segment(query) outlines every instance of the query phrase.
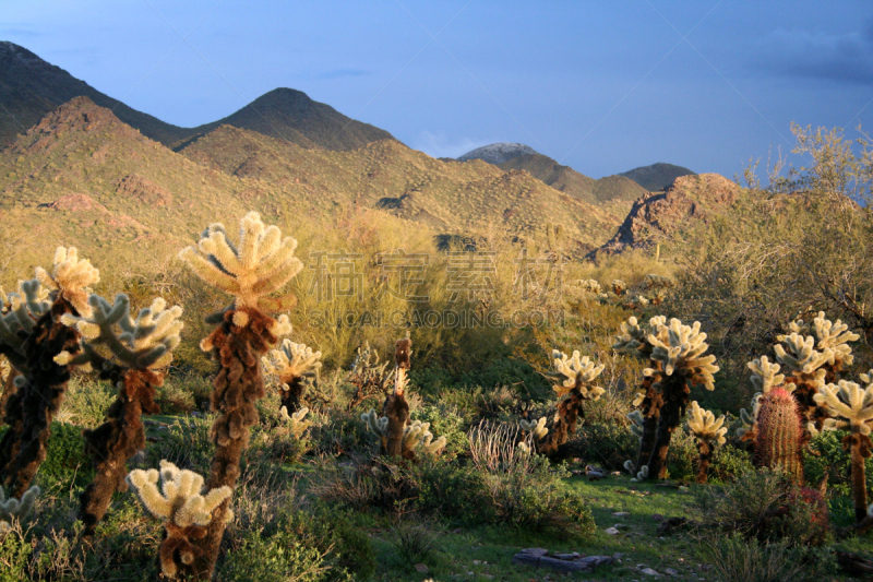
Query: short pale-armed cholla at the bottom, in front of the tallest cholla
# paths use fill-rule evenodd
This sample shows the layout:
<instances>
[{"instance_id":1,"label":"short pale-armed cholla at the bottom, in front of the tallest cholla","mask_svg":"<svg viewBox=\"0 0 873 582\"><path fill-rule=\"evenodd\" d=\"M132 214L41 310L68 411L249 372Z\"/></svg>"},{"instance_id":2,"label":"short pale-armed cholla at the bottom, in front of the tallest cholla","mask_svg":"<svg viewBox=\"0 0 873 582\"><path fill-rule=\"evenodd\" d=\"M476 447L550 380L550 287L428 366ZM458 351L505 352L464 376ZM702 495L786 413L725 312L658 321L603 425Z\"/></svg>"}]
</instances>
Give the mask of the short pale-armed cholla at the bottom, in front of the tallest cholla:
<instances>
[{"instance_id":1,"label":"short pale-armed cholla at the bottom, in front of the tallest cholla","mask_svg":"<svg viewBox=\"0 0 873 582\"><path fill-rule=\"evenodd\" d=\"M157 488L158 475L162 490ZM160 462L159 474L154 468L131 471L128 483L145 509L164 522L167 537L159 551L163 574L177 578L195 573L192 566L203 550L192 541L206 535L206 527L218 518L216 510L230 499L230 487L213 488L203 495L203 477L168 461ZM225 511L220 519L232 520L232 511Z\"/></svg>"}]
</instances>

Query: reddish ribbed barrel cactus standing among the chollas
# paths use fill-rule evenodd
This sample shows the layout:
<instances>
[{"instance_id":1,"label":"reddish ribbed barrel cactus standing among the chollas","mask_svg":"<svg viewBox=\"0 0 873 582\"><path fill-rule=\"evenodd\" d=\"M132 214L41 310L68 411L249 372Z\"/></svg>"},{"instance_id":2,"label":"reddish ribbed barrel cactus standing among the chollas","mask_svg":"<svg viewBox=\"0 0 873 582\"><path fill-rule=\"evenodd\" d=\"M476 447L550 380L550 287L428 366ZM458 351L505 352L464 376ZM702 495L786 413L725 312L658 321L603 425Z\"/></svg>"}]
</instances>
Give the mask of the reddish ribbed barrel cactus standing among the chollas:
<instances>
[{"instance_id":1,"label":"reddish ribbed barrel cactus standing among the chollas","mask_svg":"<svg viewBox=\"0 0 873 582\"><path fill-rule=\"evenodd\" d=\"M803 480L801 416L788 390L774 388L758 400L755 461L781 468L794 483Z\"/></svg>"}]
</instances>

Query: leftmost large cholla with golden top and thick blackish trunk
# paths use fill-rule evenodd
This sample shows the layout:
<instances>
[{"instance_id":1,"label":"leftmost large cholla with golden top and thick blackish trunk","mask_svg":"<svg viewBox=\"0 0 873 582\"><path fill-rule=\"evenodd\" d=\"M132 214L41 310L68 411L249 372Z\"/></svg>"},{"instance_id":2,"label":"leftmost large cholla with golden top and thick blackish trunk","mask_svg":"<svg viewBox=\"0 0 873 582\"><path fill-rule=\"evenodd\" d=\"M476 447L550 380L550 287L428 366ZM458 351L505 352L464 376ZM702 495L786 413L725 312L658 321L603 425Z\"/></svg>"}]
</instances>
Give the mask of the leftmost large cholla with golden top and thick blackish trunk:
<instances>
[{"instance_id":1,"label":"leftmost large cholla with golden top and thick blackish trunk","mask_svg":"<svg viewBox=\"0 0 873 582\"><path fill-rule=\"evenodd\" d=\"M19 307L0 318L0 351L22 373L15 394L7 401L7 421L12 428L0 443L0 478L14 497L29 487L46 458L51 419L70 380L70 370L56 363L55 356L77 351L79 333L63 325L61 316L91 314L87 287L99 281L97 270L80 260L74 247L59 247L51 274L37 268L35 275L21 284ZM49 292L47 309L40 286Z\"/></svg>"}]
</instances>

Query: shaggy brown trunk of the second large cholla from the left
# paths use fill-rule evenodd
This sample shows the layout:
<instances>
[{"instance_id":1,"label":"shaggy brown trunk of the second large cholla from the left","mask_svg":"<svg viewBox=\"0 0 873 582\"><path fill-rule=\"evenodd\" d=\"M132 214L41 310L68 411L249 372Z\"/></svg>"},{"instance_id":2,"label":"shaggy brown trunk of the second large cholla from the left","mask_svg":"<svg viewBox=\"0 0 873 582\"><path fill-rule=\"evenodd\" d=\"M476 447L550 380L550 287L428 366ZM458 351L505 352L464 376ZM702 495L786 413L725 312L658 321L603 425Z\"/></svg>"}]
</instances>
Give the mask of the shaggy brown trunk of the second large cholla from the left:
<instances>
[{"instance_id":1,"label":"shaggy brown trunk of the second large cholla from the left","mask_svg":"<svg viewBox=\"0 0 873 582\"><path fill-rule=\"evenodd\" d=\"M93 535L106 514L115 491L124 490L127 462L145 447L142 414L157 414L155 389L164 383L163 373L151 370L121 370L106 375L118 383L118 399L106 413L107 420L95 430L85 430L85 447L94 458L94 480L81 496L80 516L84 535Z\"/></svg>"}]
</instances>

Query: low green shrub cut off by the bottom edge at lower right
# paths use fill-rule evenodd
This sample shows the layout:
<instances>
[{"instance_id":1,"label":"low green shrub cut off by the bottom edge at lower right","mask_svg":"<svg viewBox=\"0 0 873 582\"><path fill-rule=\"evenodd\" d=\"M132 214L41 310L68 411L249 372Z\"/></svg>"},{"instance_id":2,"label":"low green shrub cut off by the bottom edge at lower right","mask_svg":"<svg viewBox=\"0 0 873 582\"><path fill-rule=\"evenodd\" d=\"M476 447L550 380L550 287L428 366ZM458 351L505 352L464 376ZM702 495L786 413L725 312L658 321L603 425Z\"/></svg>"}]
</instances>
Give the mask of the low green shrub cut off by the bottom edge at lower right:
<instances>
[{"instance_id":1,"label":"low green shrub cut off by the bottom edge at lower right","mask_svg":"<svg viewBox=\"0 0 873 582\"><path fill-rule=\"evenodd\" d=\"M704 539L703 554L719 582L802 582L821 575L822 568L787 542L760 543L741 534Z\"/></svg>"}]
</instances>

